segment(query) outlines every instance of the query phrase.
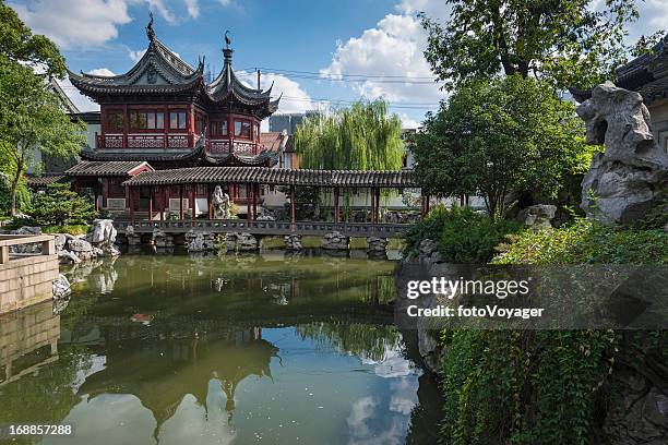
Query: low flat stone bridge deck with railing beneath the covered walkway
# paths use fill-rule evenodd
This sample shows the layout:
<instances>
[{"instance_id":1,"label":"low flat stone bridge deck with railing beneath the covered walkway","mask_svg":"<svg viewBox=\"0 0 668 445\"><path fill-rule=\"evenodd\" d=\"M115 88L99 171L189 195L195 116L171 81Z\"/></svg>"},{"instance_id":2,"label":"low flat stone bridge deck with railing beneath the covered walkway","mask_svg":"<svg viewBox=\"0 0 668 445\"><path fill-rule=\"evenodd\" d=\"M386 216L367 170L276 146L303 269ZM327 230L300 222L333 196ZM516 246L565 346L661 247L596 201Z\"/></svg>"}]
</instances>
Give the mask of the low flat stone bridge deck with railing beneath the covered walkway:
<instances>
[{"instance_id":1,"label":"low flat stone bridge deck with railing beneath the covered walkway","mask_svg":"<svg viewBox=\"0 0 668 445\"><path fill-rule=\"evenodd\" d=\"M319 221L272 221L246 219L195 219L189 220L116 220L114 226L119 233L126 233L128 226L132 226L134 233L151 233L162 230L166 233L178 234L189 231L208 233L234 233L246 232L253 236L324 236L338 231L345 237L378 237L399 238L409 224L383 224L383 222L319 222Z\"/></svg>"}]
</instances>

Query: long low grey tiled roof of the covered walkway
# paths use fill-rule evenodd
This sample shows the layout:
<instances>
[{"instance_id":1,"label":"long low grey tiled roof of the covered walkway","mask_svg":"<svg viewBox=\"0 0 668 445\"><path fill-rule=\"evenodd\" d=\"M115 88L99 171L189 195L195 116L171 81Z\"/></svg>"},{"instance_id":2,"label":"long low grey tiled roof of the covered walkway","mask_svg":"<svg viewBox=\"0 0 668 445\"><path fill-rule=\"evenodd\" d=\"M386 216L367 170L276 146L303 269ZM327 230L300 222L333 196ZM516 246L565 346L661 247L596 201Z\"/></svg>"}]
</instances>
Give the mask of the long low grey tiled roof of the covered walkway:
<instances>
[{"instance_id":1,"label":"long low grey tiled roof of the covered walkway","mask_svg":"<svg viewBox=\"0 0 668 445\"><path fill-rule=\"evenodd\" d=\"M145 171L128 181L127 185L176 185L192 183L243 183L270 185L319 185L345 188L413 188L418 184L413 171L398 170L309 170L265 167L193 167Z\"/></svg>"}]
</instances>

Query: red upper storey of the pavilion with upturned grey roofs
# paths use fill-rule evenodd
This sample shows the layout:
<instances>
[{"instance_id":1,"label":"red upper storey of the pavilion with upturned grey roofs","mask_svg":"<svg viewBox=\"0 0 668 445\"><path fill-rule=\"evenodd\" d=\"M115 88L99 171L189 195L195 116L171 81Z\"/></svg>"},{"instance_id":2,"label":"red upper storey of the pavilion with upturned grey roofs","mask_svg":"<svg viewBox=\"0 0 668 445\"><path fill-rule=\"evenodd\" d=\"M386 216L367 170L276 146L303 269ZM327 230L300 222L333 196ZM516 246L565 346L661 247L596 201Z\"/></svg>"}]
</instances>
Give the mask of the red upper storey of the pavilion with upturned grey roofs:
<instances>
[{"instance_id":1,"label":"red upper storey of the pavilion with upturned grey roofs","mask_svg":"<svg viewBox=\"0 0 668 445\"><path fill-rule=\"evenodd\" d=\"M281 98L242 84L231 68L232 49L206 84L204 59L192 68L146 27L148 48L126 74L69 72L72 84L100 107L100 134L84 160L147 161L155 169L196 166L271 167L278 154L265 149L260 122ZM228 40L229 41L229 40Z\"/></svg>"}]
</instances>

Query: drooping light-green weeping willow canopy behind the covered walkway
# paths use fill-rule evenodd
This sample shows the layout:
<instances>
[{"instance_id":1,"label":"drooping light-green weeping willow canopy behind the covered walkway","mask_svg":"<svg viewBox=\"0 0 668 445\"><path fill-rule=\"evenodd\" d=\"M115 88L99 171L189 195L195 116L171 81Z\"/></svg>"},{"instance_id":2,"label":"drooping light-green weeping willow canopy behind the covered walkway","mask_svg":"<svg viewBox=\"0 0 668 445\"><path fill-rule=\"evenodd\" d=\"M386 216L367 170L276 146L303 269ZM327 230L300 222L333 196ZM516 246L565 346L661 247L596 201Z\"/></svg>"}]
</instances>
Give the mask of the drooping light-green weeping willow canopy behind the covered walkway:
<instances>
[{"instance_id":1,"label":"drooping light-green weeping willow canopy behind the covered walkway","mask_svg":"<svg viewBox=\"0 0 668 445\"><path fill-rule=\"evenodd\" d=\"M295 132L301 167L398 170L404 156L402 122L383 100L317 113Z\"/></svg>"}]
</instances>

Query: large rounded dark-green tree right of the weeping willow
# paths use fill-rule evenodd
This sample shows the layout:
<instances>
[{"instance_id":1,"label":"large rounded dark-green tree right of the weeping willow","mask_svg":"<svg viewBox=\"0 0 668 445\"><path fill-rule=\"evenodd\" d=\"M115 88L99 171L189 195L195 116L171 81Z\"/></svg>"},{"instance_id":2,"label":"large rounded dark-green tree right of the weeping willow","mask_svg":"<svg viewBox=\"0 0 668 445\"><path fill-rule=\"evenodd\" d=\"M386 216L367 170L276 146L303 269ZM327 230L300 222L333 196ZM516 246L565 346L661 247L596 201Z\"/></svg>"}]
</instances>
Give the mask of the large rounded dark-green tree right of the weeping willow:
<instances>
[{"instance_id":1,"label":"large rounded dark-green tree right of the weeping willow","mask_svg":"<svg viewBox=\"0 0 668 445\"><path fill-rule=\"evenodd\" d=\"M520 75L463 84L415 135L415 172L430 195L485 197L492 217L506 196L532 190L554 196L564 177L584 170L592 148L574 105Z\"/></svg>"}]
</instances>

